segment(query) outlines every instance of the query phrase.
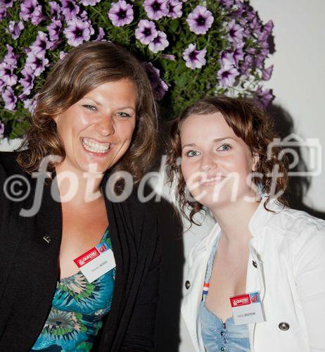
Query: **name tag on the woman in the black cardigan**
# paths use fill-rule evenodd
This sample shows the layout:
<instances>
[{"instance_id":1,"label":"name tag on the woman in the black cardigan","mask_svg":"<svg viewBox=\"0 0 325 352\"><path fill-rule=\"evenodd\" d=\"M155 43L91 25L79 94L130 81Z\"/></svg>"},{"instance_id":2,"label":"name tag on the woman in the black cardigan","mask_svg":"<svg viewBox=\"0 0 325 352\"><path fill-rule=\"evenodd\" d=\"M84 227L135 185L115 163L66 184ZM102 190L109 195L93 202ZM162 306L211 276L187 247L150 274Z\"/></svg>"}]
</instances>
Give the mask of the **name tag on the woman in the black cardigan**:
<instances>
[{"instance_id":1,"label":"name tag on the woman in the black cardigan","mask_svg":"<svg viewBox=\"0 0 325 352\"><path fill-rule=\"evenodd\" d=\"M98 244L73 261L88 282L93 282L116 266L113 251L108 248L106 243Z\"/></svg>"}]
</instances>

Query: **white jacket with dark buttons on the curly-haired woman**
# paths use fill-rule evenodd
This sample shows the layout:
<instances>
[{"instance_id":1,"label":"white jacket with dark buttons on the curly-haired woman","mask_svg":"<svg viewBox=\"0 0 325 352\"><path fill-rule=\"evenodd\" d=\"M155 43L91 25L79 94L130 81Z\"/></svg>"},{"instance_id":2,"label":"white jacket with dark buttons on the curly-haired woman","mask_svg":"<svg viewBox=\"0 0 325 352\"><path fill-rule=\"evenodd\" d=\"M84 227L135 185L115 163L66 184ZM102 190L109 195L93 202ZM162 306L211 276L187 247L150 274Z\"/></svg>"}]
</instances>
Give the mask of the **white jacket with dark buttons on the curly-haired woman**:
<instances>
[{"instance_id":1,"label":"white jacket with dark buttons on the curly-haired woman","mask_svg":"<svg viewBox=\"0 0 325 352\"><path fill-rule=\"evenodd\" d=\"M260 291L265 322L249 324L255 352L325 351L325 221L264 197L249 222L246 292ZM198 308L218 224L189 253L181 314L196 351L205 351ZM256 265L257 264L257 265Z\"/></svg>"}]
</instances>

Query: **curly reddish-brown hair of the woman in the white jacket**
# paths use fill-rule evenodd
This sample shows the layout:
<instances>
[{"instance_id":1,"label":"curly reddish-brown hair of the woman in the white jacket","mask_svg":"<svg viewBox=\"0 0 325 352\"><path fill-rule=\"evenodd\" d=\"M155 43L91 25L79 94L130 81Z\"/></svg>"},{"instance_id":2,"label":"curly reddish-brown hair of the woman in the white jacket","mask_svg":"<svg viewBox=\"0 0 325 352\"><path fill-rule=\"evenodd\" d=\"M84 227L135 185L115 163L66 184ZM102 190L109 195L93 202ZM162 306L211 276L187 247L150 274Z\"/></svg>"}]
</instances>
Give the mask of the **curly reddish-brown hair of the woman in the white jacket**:
<instances>
[{"instance_id":1,"label":"curly reddish-brown hair of the woman in the white jacket","mask_svg":"<svg viewBox=\"0 0 325 352\"><path fill-rule=\"evenodd\" d=\"M252 177L254 184L259 187L262 186L264 191L269 194L271 191L272 178L267 175L272 175L274 167L279 168L278 172L281 175L276 177L275 190L285 191L288 184L288 171L286 165L286 158L279 158L281 148L274 146L270 153L268 153L268 146L276 134L272 119L267 113L260 108L257 103L250 99L229 98L227 96L213 96L201 99L196 103L188 106L183 113L174 120L170 131L170 146L167 158L167 174L170 183L177 182L176 196L179 202L181 213L188 218L191 223L196 225L193 216L203 209L203 205L198 201L188 201L186 199L186 183L181 173L181 138L180 129L181 123L190 115L207 115L212 113L222 113L229 127L234 130L237 137L243 139L252 153L257 153L259 161L256 165L255 172L260 172L262 178ZM204 122L203 122L204 123ZM176 181L177 180L177 181ZM288 205L283 194L278 198L281 203ZM264 203L267 208L267 199ZM186 208L190 210L189 215L186 213Z\"/></svg>"}]
</instances>

